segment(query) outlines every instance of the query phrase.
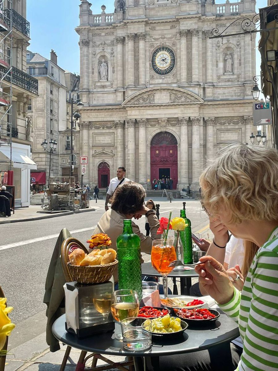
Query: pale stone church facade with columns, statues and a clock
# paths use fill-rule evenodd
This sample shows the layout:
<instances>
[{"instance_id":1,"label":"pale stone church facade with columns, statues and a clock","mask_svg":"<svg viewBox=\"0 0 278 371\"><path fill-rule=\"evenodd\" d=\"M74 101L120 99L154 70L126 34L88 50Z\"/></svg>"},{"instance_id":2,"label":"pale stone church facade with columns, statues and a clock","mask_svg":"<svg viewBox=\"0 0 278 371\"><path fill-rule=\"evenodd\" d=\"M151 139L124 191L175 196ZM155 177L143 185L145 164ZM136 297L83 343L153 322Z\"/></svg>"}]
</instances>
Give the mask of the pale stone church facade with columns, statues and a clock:
<instances>
[{"instance_id":1,"label":"pale stone church facade with columns, statues and a clock","mask_svg":"<svg viewBox=\"0 0 278 371\"><path fill-rule=\"evenodd\" d=\"M91 5L81 0L76 28L84 182L106 187L125 166L148 189L171 177L174 189L198 190L206 160L254 131L255 38L209 36L232 22L239 32L255 0L116 0L109 14Z\"/></svg>"}]
</instances>

